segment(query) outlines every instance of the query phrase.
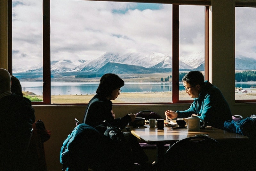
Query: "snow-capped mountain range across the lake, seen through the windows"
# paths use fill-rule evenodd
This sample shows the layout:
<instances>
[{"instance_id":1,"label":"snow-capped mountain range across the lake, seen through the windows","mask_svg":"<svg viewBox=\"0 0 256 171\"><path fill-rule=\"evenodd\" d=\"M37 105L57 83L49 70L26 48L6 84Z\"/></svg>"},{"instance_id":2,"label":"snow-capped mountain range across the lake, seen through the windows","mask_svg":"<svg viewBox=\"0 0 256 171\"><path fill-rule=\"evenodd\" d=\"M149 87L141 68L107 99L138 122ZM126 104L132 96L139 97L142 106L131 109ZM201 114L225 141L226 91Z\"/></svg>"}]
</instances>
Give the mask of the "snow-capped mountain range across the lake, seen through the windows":
<instances>
[{"instance_id":1,"label":"snow-capped mountain range across the lake, seen through the windows","mask_svg":"<svg viewBox=\"0 0 256 171\"><path fill-rule=\"evenodd\" d=\"M42 64L22 69L13 67L13 74L26 78L29 75L42 75ZM199 51L191 55L180 54L180 71L204 70L204 52ZM255 70L256 60L243 54L236 56L236 70ZM51 75L54 77L68 75L102 75L116 74L150 74L172 71L172 57L163 53L119 53L107 52L96 59L51 61Z\"/></svg>"}]
</instances>

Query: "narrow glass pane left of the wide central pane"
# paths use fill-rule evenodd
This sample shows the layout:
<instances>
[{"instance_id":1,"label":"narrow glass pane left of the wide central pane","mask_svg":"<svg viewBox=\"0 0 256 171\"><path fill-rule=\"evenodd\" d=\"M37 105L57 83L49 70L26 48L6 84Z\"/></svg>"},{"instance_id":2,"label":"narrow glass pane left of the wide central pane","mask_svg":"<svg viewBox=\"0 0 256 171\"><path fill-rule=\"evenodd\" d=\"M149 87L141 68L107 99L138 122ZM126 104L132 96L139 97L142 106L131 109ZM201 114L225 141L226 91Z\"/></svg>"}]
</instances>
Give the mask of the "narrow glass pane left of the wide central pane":
<instances>
[{"instance_id":1,"label":"narrow glass pane left of the wide central pane","mask_svg":"<svg viewBox=\"0 0 256 171\"><path fill-rule=\"evenodd\" d=\"M43 101L42 0L12 0L12 70L31 101Z\"/></svg>"}]
</instances>

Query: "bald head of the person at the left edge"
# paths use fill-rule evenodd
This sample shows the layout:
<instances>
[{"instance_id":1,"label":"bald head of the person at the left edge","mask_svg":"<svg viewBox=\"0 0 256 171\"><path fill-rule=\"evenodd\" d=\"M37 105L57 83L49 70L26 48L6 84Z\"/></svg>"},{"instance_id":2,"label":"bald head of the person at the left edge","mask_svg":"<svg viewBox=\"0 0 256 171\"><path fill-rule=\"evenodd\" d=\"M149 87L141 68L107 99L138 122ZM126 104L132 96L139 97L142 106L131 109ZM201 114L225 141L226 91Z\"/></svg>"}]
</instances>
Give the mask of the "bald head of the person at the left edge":
<instances>
[{"instance_id":1,"label":"bald head of the person at the left edge","mask_svg":"<svg viewBox=\"0 0 256 171\"><path fill-rule=\"evenodd\" d=\"M11 91L11 75L4 69L0 68L0 94Z\"/></svg>"}]
</instances>

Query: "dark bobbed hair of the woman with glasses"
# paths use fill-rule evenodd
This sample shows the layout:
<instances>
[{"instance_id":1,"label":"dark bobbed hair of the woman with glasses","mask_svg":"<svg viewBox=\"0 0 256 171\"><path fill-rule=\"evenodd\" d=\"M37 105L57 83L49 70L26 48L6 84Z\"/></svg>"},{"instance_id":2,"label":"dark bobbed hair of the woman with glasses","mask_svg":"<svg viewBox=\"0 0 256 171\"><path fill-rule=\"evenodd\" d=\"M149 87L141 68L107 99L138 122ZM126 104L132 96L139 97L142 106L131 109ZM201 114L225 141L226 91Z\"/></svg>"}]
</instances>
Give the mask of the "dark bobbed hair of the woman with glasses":
<instances>
[{"instance_id":1,"label":"dark bobbed hair of the woman with glasses","mask_svg":"<svg viewBox=\"0 0 256 171\"><path fill-rule=\"evenodd\" d=\"M100 84L96 91L97 94L102 96L110 96L112 91L124 86L124 81L116 74L104 74L100 78Z\"/></svg>"}]
</instances>

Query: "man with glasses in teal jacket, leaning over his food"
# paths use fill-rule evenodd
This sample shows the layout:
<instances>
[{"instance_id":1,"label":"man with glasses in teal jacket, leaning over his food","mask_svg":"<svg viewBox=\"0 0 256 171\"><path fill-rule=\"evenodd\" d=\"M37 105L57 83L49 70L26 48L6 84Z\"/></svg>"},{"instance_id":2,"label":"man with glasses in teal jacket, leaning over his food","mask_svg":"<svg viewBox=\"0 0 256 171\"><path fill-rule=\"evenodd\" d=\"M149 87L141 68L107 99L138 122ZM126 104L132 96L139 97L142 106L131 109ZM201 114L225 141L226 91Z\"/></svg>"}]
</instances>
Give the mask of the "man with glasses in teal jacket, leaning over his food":
<instances>
[{"instance_id":1,"label":"man with glasses in teal jacket, leaning over his food","mask_svg":"<svg viewBox=\"0 0 256 171\"><path fill-rule=\"evenodd\" d=\"M187 118L196 115L208 122L207 125L223 129L224 122L232 119L232 114L220 90L208 81L200 71L190 71L182 80L186 93L194 102L188 110L166 110L165 116L169 119Z\"/></svg>"}]
</instances>

